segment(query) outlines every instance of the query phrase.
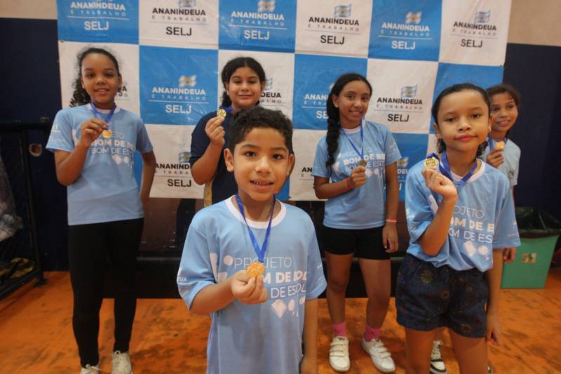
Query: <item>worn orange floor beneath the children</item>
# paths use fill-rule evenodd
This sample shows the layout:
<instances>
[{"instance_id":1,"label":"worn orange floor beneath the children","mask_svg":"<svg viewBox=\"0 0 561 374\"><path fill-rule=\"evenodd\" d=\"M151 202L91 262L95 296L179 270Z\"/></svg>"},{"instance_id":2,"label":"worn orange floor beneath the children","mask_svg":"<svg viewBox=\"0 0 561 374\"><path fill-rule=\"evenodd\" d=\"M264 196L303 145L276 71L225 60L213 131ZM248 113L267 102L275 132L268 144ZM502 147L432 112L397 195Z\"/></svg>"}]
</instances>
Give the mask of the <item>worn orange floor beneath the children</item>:
<instances>
[{"instance_id":1,"label":"worn orange floor beneath the children","mask_svg":"<svg viewBox=\"0 0 561 374\"><path fill-rule=\"evenodd\" d=\"M0 300L1 373L79 373L69 274L48 272L46 278L46 286L27 285ZM347 300L349 373L377 373L360 347L365 304L365 299ZM494 373L559 373L561 269L550 271L546 288L502 290L500 312L504 345L489 347ZM110 373L113 300L104 300L100 321L100 366ZM130 345L135 373L204 373L209 321L208 316L189 314L182 300L138 300ZM325 299L320 300L319 326L320 373L334 373L327 361L330 322ZM392 299L382 339L397 373L404 372L404 338ZM448 373L459 373L447 334L442 355Z\"/></svg>"}]
</instances>

